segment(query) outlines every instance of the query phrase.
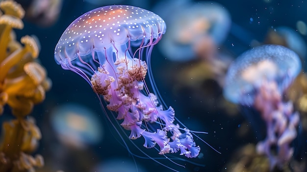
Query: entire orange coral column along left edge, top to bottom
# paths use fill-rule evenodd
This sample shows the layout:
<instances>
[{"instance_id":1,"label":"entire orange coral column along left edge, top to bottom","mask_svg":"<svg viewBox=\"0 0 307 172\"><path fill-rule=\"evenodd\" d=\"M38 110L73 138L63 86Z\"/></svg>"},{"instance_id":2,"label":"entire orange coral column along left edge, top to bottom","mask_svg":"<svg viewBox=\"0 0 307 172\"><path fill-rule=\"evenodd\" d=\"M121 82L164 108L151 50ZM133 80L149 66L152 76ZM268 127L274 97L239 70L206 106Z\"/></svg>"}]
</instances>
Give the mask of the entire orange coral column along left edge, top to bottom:
<instances>
[{"instance_id":1,"label":"entire orange coral column along left edge, top to bottom","mask_svg":"<svg viewBox=\"0 0 307 172\"><path fill-rule=\"evenodd\" d=\"M7 104L16 119L2 124L0 172L34 172L42 167L41 155L33 152L41 132L35 120L28 117L33 106L45 99L51 80L37 62L39 44L34 36L24 36L20 44L14 28L23 29L25 11L12 0L0 2L0 115Z\"/></svg>"}]
</instances>

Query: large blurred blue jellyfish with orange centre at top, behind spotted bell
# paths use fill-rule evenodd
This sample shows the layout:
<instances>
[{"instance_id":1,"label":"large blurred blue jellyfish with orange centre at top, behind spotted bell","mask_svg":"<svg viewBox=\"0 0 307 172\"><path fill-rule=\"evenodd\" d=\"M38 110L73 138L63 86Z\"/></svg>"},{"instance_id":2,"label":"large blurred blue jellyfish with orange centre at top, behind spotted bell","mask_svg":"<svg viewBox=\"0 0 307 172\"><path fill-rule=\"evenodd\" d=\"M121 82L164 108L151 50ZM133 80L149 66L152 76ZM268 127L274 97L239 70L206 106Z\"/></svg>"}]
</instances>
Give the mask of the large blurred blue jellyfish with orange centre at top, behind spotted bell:
<instances>
[{"instance_id":1,"label":"large blurred blue jellyfish with orange centre at top, behind spotted bell","mask_svg":"<svg viewBox=\"0 0 307 172\"><path fill-rule=\"evenodd\" d=\"M162 18L166 17L168 33L159 48L171 61L186 62L195 58L210 59L215 56L230 30L230 14L217 2L172 1L164 5ZM156 8L161 10L159 5ZM172 10L173 9L173 10Z\"/></svg>"}]
</instances>

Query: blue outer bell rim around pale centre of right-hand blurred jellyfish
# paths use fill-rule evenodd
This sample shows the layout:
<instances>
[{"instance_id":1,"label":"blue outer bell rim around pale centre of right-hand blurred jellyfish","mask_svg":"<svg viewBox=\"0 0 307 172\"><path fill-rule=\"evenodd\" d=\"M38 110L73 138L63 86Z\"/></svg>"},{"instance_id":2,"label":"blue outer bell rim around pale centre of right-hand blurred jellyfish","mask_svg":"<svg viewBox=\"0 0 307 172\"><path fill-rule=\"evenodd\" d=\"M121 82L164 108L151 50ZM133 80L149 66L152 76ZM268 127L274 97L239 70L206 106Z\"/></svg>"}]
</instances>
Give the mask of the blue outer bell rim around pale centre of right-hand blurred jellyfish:
<instances>
[{"instance_id":1,"label":"blue outer bell rim around pale centre of right-hand blurred jellyfish","mask_svg":"<svg viewBox=\"0 0 307 172\"><path fill-rule=\"evenodd\" d=\"M256 58L256 60L253 58ZM254 60L254 62L252 62L252 60ZM281 45L262 45L249 49L239 55L230 65L225 78L225 86L223 90L224 97L235 104L252 105L254 103L254 91L257 86L261 85L261 82L248 82L242 79L241 73L248 67L264 60L269 60L274 63L286 61L284 63L285 65L281 66L282 69L278 69L279 72L284 72L283 76L285 77L283 79L279 78L280 76L266 78L275 81L281 79L280 83L278 83L281 92L289 87L302 69L302 63L298 54ZM251 63L248 64L249 62ZM281 63L276 65L281 65ZM240 77L238 77L239 75Z\"/></svg>"}]
</instances>

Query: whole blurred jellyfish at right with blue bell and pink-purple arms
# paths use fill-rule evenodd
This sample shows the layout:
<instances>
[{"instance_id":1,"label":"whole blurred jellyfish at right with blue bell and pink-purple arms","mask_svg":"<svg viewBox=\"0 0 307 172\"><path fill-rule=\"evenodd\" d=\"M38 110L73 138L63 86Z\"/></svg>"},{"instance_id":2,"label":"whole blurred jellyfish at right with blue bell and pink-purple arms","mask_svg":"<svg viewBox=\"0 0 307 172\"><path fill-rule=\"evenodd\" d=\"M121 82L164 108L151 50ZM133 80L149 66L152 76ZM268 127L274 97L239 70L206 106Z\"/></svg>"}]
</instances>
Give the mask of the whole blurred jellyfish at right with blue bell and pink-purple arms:
<instances>
[{"instance_id":1,"label":"whole blurred jellyfish at right with blue bell and pink-purple arms","mask_svg":"<svg viewBox=\"0 0 307 172\"><path fill-rule=\"evenodd\" d=\"M240 55L226 76L224 97L255 108L266 125L266 137L257 143L256 150L268 157L271 170L281 168L293 155L291 143L297 136L299 113L291 101L284 100L284 94L301 66L294 51L263 45Z\"/></svg>"}]
</instances>

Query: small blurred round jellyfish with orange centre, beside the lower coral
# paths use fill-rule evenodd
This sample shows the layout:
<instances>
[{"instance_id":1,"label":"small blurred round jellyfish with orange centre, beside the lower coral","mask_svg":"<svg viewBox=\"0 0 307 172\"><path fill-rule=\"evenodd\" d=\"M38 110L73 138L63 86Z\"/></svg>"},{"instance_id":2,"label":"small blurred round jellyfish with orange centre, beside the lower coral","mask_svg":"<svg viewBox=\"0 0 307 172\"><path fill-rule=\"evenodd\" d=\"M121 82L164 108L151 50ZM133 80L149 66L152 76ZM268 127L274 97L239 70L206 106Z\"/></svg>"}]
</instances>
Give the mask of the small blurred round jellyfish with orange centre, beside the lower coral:
<instances>
[{"instance_id":1,"label":"small blurred round jellyfish with orange centre, beside the lower coral","mask_svg":"<svg viewBox=\"0 0 307 172\"><path fill-rule=\"evenodd\" d=\"M51 125L62 144L82 149L102 139L103 130L97 117L80 104L62 104L52 110Z\"/></svg>"}]
</instances>

